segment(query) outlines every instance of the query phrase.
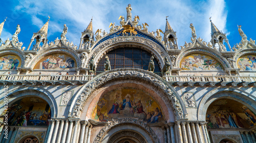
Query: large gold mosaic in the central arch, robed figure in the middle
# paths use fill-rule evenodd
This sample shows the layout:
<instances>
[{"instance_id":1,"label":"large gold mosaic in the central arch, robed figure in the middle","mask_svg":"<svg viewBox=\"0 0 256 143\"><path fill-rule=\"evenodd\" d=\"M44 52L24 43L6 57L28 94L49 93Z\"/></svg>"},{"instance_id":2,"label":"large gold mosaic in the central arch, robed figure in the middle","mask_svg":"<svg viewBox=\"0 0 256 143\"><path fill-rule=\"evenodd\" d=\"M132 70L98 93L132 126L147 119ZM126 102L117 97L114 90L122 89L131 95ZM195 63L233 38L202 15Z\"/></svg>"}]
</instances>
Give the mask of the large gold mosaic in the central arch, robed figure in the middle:
<instances>
[{"instance_id":1,"label":"large gold mosaic in the central arch, robed figure in the middle","mask_svg":"<svg viewBox=\"0 0 256 143\"><path fill-rule=\"evenodd\" d=\"M102 95L92 112L92 119L100 122L120 117L136 117L147 123L163 120L158 103L148 93L135 88L115 89Z\"/></svg>"}]
</instances>

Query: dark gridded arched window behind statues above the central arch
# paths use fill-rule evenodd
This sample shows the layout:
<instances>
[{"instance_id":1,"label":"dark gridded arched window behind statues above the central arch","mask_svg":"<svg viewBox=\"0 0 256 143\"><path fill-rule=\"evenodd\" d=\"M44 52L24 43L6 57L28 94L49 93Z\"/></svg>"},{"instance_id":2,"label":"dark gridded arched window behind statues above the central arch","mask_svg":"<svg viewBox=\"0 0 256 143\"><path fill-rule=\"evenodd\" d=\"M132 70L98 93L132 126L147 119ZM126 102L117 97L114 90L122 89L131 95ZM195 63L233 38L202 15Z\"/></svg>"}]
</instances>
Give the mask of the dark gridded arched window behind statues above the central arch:
<instances>
[{"instance_id":1,"label":"dark gridded arched window behind statues above the central arch","mask_svg":"<svg viewBox=\"0 0 256 143\"><path fill-rule=\"evenodd\" d=\"M111 69L119 68L137 68L148 70L148 63L150 62L151 54L139 48L118 48L107 53L110 59ZM98 65L96 72L104 72L105 57L103 56ZM154 73L160 75L160 66L156 59L154 59L155 70Z\"/></svg>"}]
</instances>

